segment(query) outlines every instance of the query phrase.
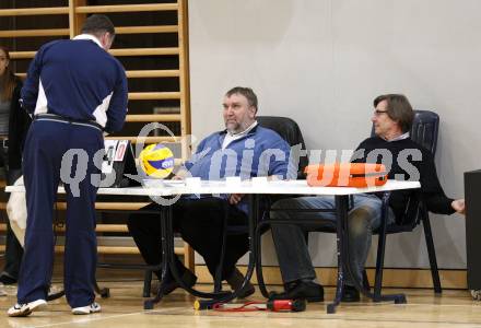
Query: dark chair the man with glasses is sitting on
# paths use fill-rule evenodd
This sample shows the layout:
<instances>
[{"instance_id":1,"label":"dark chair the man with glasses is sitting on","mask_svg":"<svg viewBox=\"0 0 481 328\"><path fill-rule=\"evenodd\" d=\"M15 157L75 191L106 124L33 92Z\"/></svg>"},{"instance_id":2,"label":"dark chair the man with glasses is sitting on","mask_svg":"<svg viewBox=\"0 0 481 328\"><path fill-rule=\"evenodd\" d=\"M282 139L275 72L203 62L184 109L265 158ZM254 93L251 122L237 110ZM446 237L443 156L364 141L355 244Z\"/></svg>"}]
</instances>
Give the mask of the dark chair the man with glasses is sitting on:
<instances>
[{"instance_id":1,"label":"dark chair the man with glasses is sitting on","mask_svg":"<svg viewBox=\"0 0 481 328\"><path fill-rule=\"evenodd\" d=\"M437 114L430 110L414 110L414 121L412 129L410 131L411 139L425 149L430 150L433 155L436 151L437 145L437 134L439 127L439 117ZM374 136L374 127L372 130L372 136ZM385 246L386 246L386 235L395 234L395 233L403 233L413 231L421 222L424 227L424 235L427 246L427 254L431 263L431 273L433 278L434 292L436 294L442 293L439 274L437 269L436 254L434 249L433 235L431 231L430 218L426 208L422 203L422 201L413 196L409 200L406 207L404 216L401 220L401 224L392 223L386 225L386 214L389 201L389 192L385 192L383 198L383 220L382 225L377 229L374 234L379 235L378 239L378 248L377 248L377 258L376 258L376 277L375 277L375 286L374 286L374 301L380 301L380 289L383 283L383 267L384 267L384 255L385 255ZM302 210L300 210L302 211ZM314 210L313 210L314 211ZM269 220L270 221L270 220ZM267 222L265 222L267 223ZM269 223L273 223L270 221ZM295 223L295 222L292 222ZM324 226L318 232L329 232L336 233L336 227L326 227ZM258 241L258 249L257 253L257 278L259 282L259 288L265 296L268 296L267 289L263 283L262 270L261 270L261 259L260 259L260 241ZM367 276L364 271L364 286L369 289ZM392 298L395 300L395 298Z\"/></svg>"}]
</instances>

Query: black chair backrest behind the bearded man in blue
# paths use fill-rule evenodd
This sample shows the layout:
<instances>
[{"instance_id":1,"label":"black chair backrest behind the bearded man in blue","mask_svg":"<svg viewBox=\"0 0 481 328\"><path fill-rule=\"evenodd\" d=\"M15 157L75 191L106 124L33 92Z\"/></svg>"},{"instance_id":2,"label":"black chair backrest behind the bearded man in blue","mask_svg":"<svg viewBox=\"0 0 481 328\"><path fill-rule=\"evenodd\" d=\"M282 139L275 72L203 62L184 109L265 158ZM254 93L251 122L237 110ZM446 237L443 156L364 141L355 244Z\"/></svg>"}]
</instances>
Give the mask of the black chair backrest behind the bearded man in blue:
<instances>
[{"instance_id":1,"label":"black chair backrest behind the bearded man in blue","mask_svg":"<svg viewBox=\"0 0 481 328\"><path fill-rule=\"evenodd\" d=\"M258 116L257 121L261 127L278 132L279 136L281 136L289 143L289 145L293 147L296 144L301 144L301 149L306 149L301 129L293 119L282 116ZM300 154L293 155L297 156ZM307 166L307 155L300 156L297 178L304 177L304 168Z\"/></svg>"}]
</instances>

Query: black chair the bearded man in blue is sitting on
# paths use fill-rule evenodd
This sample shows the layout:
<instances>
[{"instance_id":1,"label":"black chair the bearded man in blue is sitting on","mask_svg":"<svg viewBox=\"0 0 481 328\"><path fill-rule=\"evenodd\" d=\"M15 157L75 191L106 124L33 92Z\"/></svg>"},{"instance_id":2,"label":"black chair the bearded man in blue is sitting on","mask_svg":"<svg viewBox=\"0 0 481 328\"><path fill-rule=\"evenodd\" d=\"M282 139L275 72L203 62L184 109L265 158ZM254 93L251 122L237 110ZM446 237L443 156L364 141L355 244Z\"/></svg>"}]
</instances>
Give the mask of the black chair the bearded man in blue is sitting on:
<instances>
[{"instance_id":1,"label":"black chair the bearded man in blue is sitting on","mask_svg":"<svg viewBox=\"0 0 481 328\"><path fill-rule=\"evenodd\" d=\"M293 119L281 116L258 116L257 121L259 126L278 132L278 134L281 136L289 143L289 145L291 145L291 157L300 159L297 165L297 178L304 178L304 168L307 166L308 159L307 154L303 153L303 151L306 150L306 145L304 143L304 138L302 136L298 125ZM266 207L269 208L270 203L285 197L289 196L271 196L265 198L267 203ZM221 249L221 260L219 267L216 268L214 277L214 292L220 292L222 290L222 265L225 255L227 236L247 234L248 227L247 225L227 225L227 220L224 220L223 231L224 234Z\"/></svg>"}]
</instances>

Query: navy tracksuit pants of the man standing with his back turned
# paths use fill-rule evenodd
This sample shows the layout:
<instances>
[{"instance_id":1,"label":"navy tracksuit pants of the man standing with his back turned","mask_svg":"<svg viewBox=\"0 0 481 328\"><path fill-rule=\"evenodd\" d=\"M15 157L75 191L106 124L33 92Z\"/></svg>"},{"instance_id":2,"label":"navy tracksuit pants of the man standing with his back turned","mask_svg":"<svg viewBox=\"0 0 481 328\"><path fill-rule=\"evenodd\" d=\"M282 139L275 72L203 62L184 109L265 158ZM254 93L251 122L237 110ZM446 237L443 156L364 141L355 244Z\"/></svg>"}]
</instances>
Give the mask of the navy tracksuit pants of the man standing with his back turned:
<instances>
[{"instance_id":1,"label":"navy tracksuit pants of the man standing with his back turned","mask_svg":"<svg viewBox=\"0 0 481 328\"><path fill-rule=\"evenodd\" d=\"M84 150L89 156L63 165L71 177L83 176L80 195L72 195L72 185L66 184L67 221L63 283L71 307L90 305L94 298L93 282L96 267L95 198L97 187L91 183L92 174L99 174L94 154L104 149L102 131L92 126L64 121L34 120L23 153L23 173L26 189L27 226L25 249L20 271L17 301L20 304L46 300L50 286L54 262L54 202L60 180L63 154ZM98 165L98 164L97 164ZM81 172L83 171L83 172ZM86 173L86 174L85 174ZM75 188L73 188L75 190Z\"/></svg>"}]
</instances>

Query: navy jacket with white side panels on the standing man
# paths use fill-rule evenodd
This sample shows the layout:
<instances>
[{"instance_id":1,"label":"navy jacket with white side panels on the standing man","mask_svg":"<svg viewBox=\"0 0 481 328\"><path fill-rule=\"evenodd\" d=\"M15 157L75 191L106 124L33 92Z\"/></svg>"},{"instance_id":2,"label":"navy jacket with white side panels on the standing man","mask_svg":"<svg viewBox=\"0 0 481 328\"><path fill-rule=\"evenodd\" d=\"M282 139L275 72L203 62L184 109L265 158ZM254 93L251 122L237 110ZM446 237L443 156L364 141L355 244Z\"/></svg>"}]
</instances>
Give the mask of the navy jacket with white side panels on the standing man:
<instances>
[{"instance_id":1,"label":"navy jacket with white side panels on the standing man","mask_svg":"<svg viewBox=\"0 0 481 328\"><path fill-rule=\"evenodd\" d=\"M50 42L30 65L22 103L30 114L96 121L115 132L127 114L126 72L92 35Z\"/></svg>"}]
</instances>

